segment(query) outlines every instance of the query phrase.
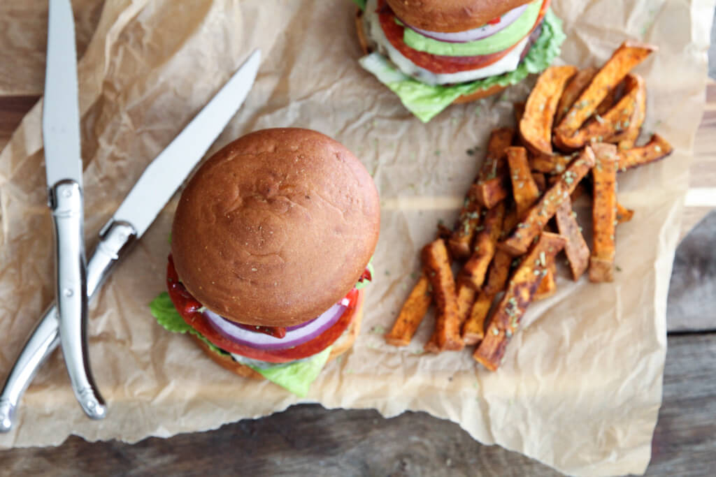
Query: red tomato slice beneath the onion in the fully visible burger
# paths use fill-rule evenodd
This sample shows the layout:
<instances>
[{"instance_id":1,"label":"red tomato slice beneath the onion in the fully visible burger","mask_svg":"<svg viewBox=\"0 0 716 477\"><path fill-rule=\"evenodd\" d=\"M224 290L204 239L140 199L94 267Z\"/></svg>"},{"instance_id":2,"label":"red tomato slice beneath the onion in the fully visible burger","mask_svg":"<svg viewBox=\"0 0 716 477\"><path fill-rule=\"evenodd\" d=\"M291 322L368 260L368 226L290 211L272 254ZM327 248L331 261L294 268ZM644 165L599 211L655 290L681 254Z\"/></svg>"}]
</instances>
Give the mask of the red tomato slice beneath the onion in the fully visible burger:
<instances>
[{"instance_id":1,"label":"red tomato slice beneath the onion in the fully visible burger","mask_svg":"<svg viewBox=\"0 0 716 477\"><path fill-rule=\"evenodd\" d=\"M356 310L359 308L359 303L363 300L363 293L354 288L346 295L349 300L347 310L341 315L337 322L334 323L331 328L324 331L324 333L293 348L286 348L284 350L261 350L248 345L235 343L219 333L211 325L203 313L199 312L201 303L199 303L179 281L171 255L169 256L169 263L167 265L167 288L174 307L184 321L201 333L201 335L213 343L213 345L229 353L236 353L246 356L246 358L267 361L269 363L286 363L287 361L308 358L328 348L329 345L332 345L348 328Z\"/></svg>"}]
</instances>

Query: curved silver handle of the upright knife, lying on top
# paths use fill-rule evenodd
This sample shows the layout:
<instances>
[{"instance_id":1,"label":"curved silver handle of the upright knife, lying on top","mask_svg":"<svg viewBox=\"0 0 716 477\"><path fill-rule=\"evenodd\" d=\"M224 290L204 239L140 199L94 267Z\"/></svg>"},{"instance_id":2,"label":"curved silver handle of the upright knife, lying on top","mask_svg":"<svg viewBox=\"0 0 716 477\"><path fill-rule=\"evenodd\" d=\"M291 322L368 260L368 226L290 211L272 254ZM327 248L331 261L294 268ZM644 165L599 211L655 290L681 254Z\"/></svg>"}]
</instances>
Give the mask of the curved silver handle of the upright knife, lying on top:
<instances>
[{"instance_id":1,"label":"curved silver handle of the upright knife, lying on top","mask_svg":"<svg viewBox=\"0 0 716 477\"><path fill-rule=\"evenodd\" d=\"M87 352L87 270L84 262L82 188L61 180L49 194L55 235L59 341L74 396L92 419L105 417L107 408L89 368Z\"/></svg>"}]
</instances>

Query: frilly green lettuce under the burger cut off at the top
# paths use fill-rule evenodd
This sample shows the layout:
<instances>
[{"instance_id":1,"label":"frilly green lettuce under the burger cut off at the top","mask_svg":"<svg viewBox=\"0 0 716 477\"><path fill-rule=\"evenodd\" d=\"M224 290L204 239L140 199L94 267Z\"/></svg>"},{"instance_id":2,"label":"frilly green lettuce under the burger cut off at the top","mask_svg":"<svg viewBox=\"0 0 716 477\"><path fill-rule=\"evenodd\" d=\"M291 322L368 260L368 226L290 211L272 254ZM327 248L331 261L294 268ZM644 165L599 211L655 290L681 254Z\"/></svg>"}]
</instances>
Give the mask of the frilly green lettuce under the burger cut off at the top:
<instances>
[{"instance_id":1,"label":"frilly green lettuce under the burger cut off at the top","mask_svg":"<svg viewBox=\"0 0 716 477\"><path fill-rule=\"evenodd\" d=\"M412 114L422 122L428 122L464 94L472 94L478 89L488 89L495 84L503 87L516 84L523 81L530 73L542 72L559 56L559 47L566 38L561 24L561 20L551 9L548 9L544 16L541 35L517 69L473 82L430 86L400 72L378 53L363 56L359 62L364 69L374 74L380 82L397 94L402 104Z\"/></svg>"}]
</instances>

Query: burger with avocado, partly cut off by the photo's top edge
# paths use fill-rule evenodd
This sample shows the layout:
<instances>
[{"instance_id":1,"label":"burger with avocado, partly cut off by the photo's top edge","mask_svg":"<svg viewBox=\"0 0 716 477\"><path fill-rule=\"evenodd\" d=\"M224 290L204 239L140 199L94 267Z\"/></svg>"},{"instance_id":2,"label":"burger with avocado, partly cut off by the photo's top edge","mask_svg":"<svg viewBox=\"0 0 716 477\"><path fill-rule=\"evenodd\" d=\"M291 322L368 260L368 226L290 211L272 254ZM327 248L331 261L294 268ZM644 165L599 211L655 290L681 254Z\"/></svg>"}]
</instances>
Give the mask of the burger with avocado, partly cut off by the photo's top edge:
<instances>
[{"instance_id":1,"label":"burger with avocado, partly cut off by the photo's top edge","mask_svg":"<svg viewBox=\"0 0 716 477\"><path fill-rule=\"evenodd\" d=\"M357 3L360 64L423 122L542 72L565 38L550 0Z\"/></svg>"}]
</instances>

